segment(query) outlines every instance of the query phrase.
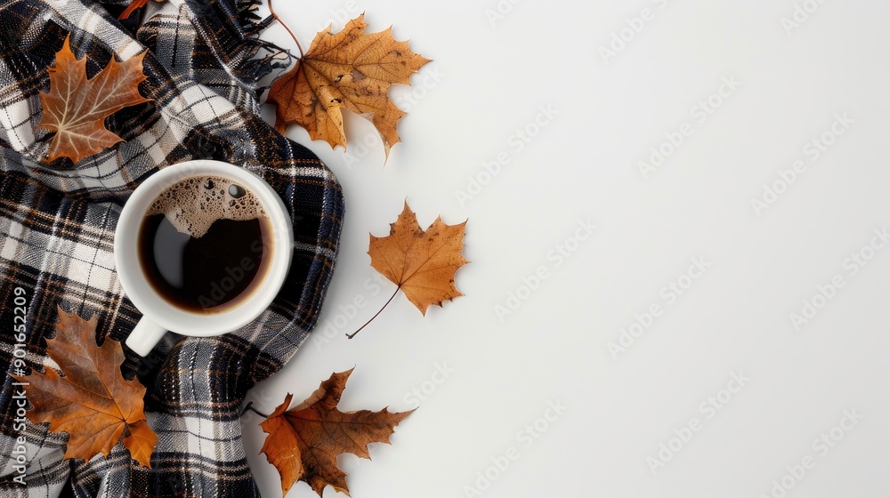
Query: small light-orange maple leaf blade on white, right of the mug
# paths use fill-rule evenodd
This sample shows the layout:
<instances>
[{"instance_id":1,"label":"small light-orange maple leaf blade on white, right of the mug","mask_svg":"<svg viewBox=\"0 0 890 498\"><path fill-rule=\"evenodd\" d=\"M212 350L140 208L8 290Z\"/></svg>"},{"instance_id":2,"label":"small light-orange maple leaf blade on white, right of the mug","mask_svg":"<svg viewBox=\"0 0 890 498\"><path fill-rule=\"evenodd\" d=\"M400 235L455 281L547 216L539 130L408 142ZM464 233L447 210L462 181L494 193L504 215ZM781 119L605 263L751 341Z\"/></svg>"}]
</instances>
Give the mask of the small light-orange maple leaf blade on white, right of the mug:
<instances>
[{"instance_id":1,"label":"small light-orange maple leaf blade on white, right of the mug","mask_svg":"<svg viewBox=\"0 0 890 498\"><path fill-rule=\"evenodd\" d=\"M388 237L371 235L371 266L398 285L426 315L433 304L441 306L464 295L454 285L454 274L469 262L461 254L465 228L466 221L446 225L440 216L424 231L406 202L399 219L390 224Z\"/></svg>"}]
</instances>

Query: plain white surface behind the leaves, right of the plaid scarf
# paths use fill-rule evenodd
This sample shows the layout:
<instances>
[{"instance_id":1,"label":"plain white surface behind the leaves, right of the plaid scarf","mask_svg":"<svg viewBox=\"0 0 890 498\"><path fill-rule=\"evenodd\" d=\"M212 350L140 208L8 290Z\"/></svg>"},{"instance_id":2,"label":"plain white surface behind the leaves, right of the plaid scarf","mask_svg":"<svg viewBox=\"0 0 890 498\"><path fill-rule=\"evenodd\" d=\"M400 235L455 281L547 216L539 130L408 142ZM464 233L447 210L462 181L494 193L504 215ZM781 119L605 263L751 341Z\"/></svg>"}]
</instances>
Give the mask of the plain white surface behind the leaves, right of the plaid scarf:
<instances>
[{"instance_id":1,"label":"plain white surface behind the leaves, right of the plaid scarf","mask_svg":"<svg viewBox=\"0 0 890 498\"><path fill-rule=\"evenodd\" d=\"M651 21L626 29L626 46L604 60L601 47L644 8ZM409 410L412 390L425 390L392 446L372 445L371 461L340 457L356 498L890 494L890 246L867 248L890 227L888 5L827 0L788 29L793 0L504 0L495 22L489 9L497 0L279 2L304 48L328 22L338 30L366 11L370 32L392 24L433 62L390 92L409 115L385 166L358 116L347 116L346 153L288 131L344 185L320 324L331 338L317 330L249 399L271 412L287 392L298 402L352 366L344 410ZM293 47L279 27L264 37ZM716 97L724 78L740 85ZM701 122L708 98L718 105ZM542 106L556 116L530 125ZM814 160L812 141L836 115L853 123L826 135L833 144ZM684 123L692 134L643 175L640 162ZM535 136L520 150L522 130ZM486 176L500 153L509 163ZM797 160L805 173L756 212L752 199ZM469 179L487 184L461 203ZM395 288L374 281L368 233L386 235L406 198L423 227L439 214L469 220L472 262L457 272L466 295L423 317L400 294L348 341ZM573 240L588 220L593 235ZM574 251L557 265L560 245ZM847 259L860 251L873 257L853 275ZM682 277L692 258L709 265L694 280ZM548 277L522 290L540 267ZM815 298L821 309L797 330L791 315L836 276L844 286ZM671 282L689 288L671 299ZM524 299L498 317L509 293ZM357 297L364 306L350 309ZM613 355L652 305L661 315ZM436 365L453 373L441 382ZM733 373L749 380L739 389ZM708 399L718 397L716 410ZM548 403L567 410L538 421ZM862 418L837 429L845 411ZM672 442L692 418L700 430ZM521 431L536 421L546 430L529 446ZM257 455L260 418L244 422L261 492L280 496L278 473ZM662 444L682 447L668 455ZM498 470L511 447L518 458ZM793 476L807 456L812 469ZM288 494L313 495L302 483Z\"/></svg>"}]
</instances>

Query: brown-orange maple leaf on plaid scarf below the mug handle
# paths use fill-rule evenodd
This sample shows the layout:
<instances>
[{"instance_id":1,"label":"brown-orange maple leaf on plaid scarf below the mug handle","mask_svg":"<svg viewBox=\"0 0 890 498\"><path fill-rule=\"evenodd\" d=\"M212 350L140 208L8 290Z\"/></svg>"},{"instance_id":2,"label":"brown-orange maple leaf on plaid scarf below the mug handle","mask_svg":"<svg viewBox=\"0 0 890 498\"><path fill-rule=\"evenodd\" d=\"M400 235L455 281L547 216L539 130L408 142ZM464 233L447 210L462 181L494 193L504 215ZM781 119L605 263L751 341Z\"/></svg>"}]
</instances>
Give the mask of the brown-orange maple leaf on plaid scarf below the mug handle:
<instances>
[{"instance_id":1,"label":"brown-orange maple leaf on plaid scarf below the mug handle","mask_svg":"<svg viewBox=\"0 0 890 498\"><path fill-rule=\"evenodd\" d=\"M46 341L46 354L65 376L53 368L16 376L28 382L28 401L34 406L28 419L49 422L53 432L69 433L65 458L89 460L108 456L124 439L124 446L141 465L151 467L150 455L158 436L142 412L145 388L138 380L126 381L120 373L124 351L120 342L106 338L96 345L96 317L85 321L59 309L56 336Z\"/></svg>"}]
</instances>

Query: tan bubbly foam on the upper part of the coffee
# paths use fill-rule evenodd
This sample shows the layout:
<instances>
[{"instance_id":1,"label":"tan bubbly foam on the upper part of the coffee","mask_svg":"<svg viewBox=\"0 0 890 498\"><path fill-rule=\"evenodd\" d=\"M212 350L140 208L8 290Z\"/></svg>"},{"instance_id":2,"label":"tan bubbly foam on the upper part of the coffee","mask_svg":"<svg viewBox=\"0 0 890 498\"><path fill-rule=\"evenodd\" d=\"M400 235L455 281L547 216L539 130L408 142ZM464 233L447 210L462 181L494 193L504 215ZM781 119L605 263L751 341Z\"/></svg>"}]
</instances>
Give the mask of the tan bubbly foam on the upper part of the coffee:
<instances>
[{"instance_id":1,"label":"tan bubbly foam on the upper part of the coffee","mask_svg":"<svg viewBox=\"0 0 890 498\"><path fill-rule=\"evenodd\" d=\"M151 203L147 215L153 214L164 214L179 232L195 238L204 237L217 220L269 217L253 192L220 176L195 176L174 183Z\"/></svg>"}]
</instances>

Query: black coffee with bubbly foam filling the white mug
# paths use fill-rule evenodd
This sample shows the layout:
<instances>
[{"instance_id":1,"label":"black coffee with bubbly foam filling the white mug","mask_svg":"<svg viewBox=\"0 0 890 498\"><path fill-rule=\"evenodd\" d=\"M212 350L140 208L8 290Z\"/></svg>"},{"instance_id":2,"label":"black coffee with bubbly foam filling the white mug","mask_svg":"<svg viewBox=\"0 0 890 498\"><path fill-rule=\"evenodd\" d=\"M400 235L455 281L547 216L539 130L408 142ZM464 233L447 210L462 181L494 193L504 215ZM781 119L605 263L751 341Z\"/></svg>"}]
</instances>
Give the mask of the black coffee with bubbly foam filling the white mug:
<instances>
[{"instance_id":1,"label":"black coffee with bubbly foam filling the white mug","mask_svg":"<svg viewBox=\"0 0 890 498\"><path fill-rule=\"evenodd\" d=\"M262 285L271 262L271 222L249 191L223 178L193 177L151 206L139 231L139 259L166 301L221 311Z\"/></svg>"}]
</instances>

